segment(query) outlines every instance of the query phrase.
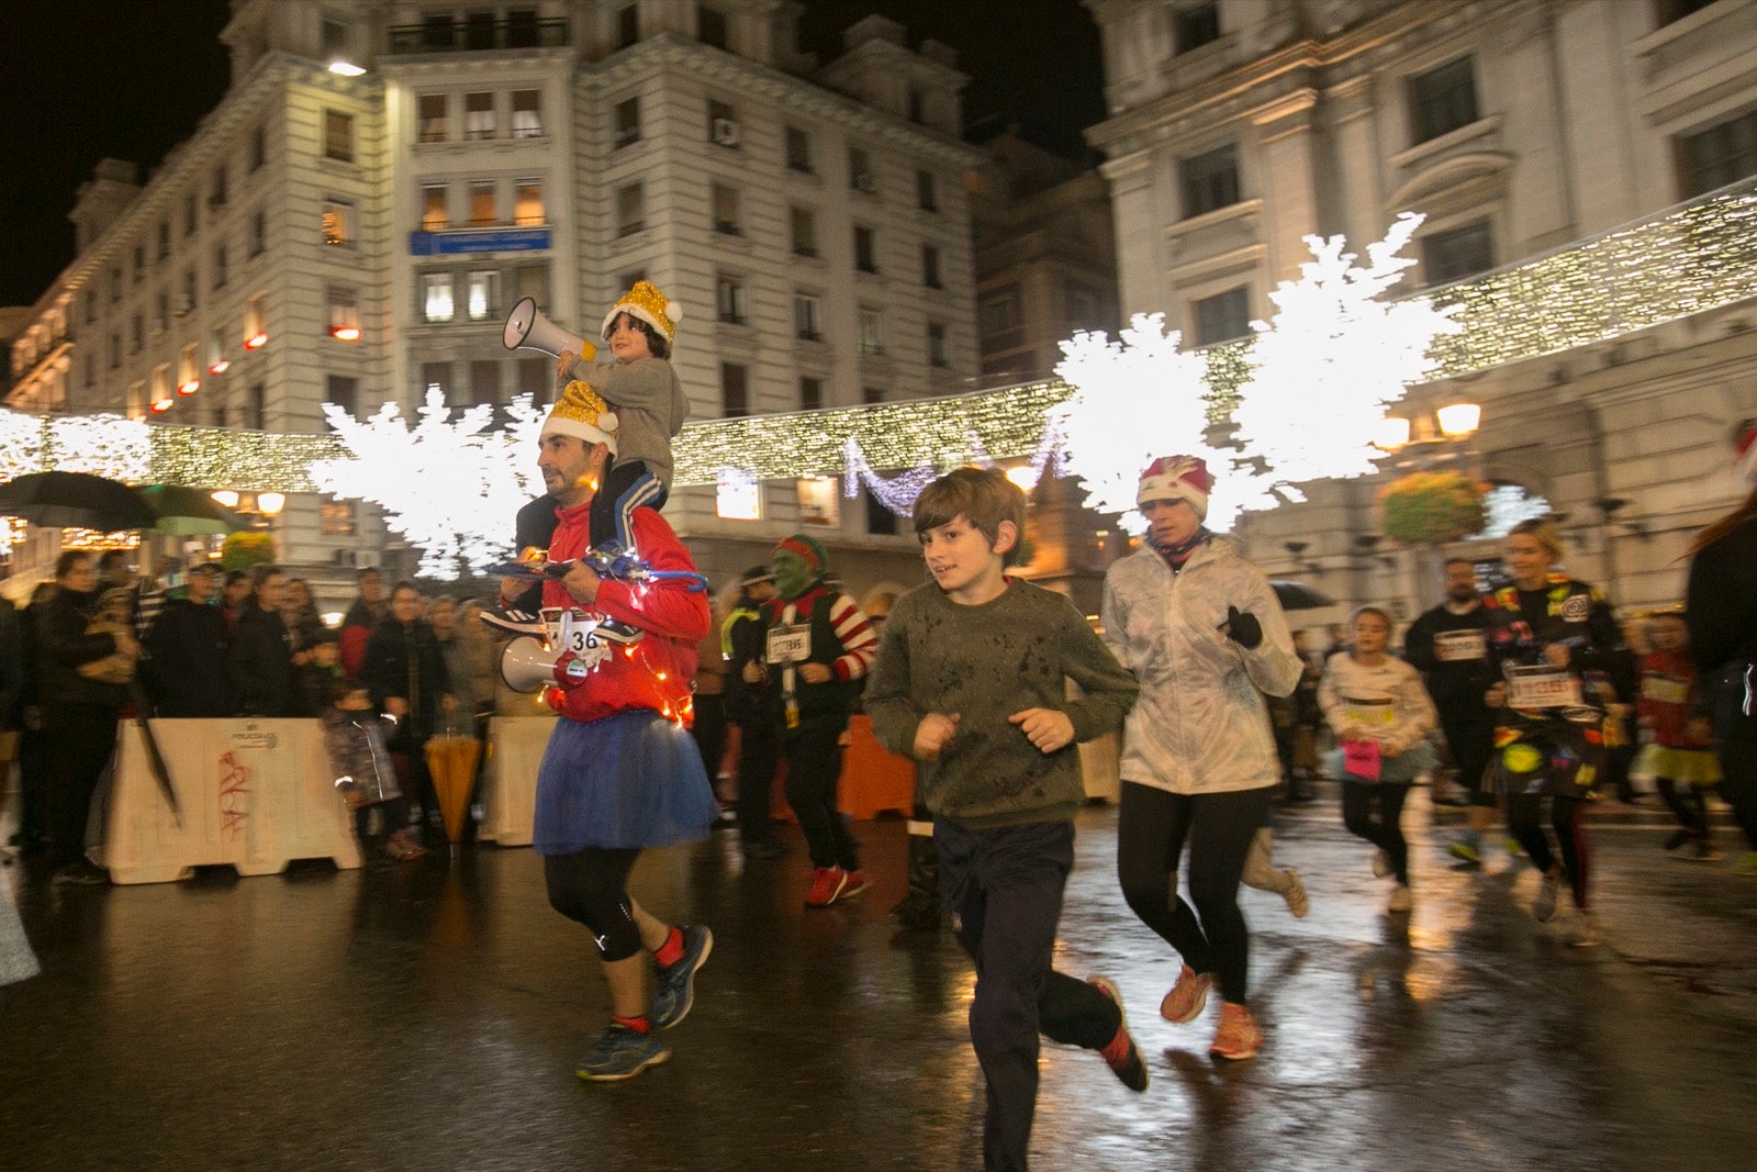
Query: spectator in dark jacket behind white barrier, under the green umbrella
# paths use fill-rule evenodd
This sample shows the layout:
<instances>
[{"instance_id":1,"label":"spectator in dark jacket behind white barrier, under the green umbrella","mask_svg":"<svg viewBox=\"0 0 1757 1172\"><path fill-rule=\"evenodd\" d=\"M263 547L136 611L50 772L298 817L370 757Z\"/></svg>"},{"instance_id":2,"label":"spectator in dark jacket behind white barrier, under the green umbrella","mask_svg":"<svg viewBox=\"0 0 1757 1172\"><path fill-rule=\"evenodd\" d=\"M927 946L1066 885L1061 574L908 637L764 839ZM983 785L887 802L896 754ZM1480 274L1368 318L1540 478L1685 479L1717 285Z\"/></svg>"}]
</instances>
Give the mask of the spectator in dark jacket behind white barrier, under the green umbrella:
<instances>
[{"instance_id":1,"label":"spectator in dark jacket behind white barrier, under the green umbrella","mask_svg":"<svg viewBox=\"0 0 1757 1172\"><path fill-rule=\"evenodd\" d=\"M220 566L199 562L188 573L184 597L167 597L146 633L141 678L160 717L230 717L237 712L232 687L225 615L214 606Z\"/></svg>"}]
</instances>

